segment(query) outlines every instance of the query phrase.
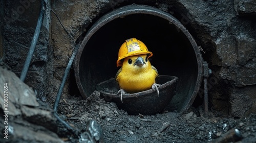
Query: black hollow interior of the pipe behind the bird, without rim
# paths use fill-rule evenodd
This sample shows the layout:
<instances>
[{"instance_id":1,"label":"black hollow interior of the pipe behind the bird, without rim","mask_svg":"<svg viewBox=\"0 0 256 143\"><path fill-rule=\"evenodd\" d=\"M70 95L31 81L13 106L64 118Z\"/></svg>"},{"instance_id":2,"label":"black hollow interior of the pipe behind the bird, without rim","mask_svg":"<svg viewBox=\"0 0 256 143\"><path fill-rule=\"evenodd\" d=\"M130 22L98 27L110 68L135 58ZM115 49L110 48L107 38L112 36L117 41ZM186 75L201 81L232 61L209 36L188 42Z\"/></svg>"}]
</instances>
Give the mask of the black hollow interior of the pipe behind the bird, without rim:
<instances>
[{"instance_id":1,"label":"black hollow interior of the pipe behind the bird, without rim","mask_svg":"<svg viewBox=\"0 0 256 143\"><path fill-rule=\"evenodd\" d=\"M151 63L160 75L179 78L168 110L182 110L195 94L198 70L201 70L198 57L187 36L174 23L152 14L113 19L90 37L79 60L79 76L86 96L98 83L115 77L120 68L116 67L119 47L132 37L144 42L153 53Z\"/></svg>"}]
</instances>

